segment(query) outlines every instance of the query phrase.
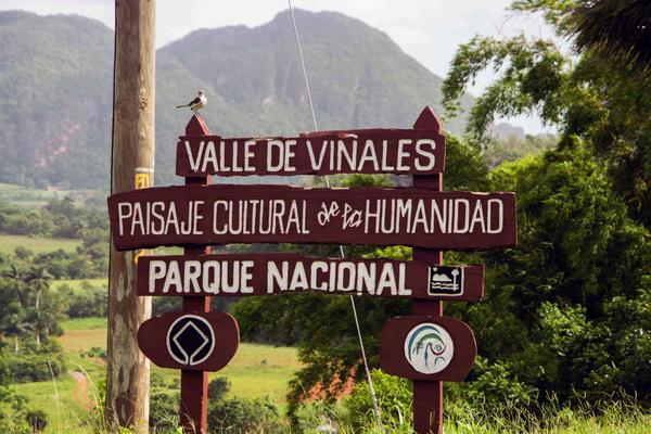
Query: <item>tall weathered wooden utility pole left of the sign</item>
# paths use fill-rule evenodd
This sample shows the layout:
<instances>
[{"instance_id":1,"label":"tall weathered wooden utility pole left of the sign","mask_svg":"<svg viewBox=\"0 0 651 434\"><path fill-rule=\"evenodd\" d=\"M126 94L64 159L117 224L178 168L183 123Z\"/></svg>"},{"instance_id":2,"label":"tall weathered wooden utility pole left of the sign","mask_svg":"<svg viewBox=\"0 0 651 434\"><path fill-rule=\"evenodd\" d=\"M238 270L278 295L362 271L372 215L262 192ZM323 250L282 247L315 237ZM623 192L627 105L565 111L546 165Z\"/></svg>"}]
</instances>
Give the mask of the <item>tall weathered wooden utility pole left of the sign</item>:
<instances>
[{"instance_id":1,"label":"tall weathered wooden utility pole left of the sign","mask_svg":"<svg viewBox=\"0 0 651 434\"><path fill-rule=\"evenodd\" d=\"M153 184L155 0L115 1L112 193ZM106 423L148 432L150 362L136 332L151 315L151 298L136 295L140 252L111 243Z\"/></svg>"}]
</instances>

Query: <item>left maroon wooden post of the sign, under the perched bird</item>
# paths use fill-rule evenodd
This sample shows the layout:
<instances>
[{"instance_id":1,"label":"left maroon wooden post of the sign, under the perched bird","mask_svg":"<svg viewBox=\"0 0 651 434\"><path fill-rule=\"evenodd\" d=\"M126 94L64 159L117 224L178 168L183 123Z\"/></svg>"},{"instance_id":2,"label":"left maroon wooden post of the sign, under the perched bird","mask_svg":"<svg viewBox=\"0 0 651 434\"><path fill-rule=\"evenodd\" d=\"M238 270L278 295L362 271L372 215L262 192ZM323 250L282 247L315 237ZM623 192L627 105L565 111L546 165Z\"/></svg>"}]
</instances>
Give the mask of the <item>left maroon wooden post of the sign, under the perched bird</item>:
<instances>
[{"instance_id":1,"label":"left maroon wooden post of the sign, under the perched bird","mask_svg":"<svg viewBox=\"0 0 651 434\"><path fill-rule=\"evenodd\" d=\"M187 135L209 135L207 126L193 116ZM212 177L186 178L186 186L205 186L212 183ZM184 248L186 255L209 254L210 247ZM210 311L210 297L183 297L183 314ZM184 434L205 434L208 408L208 372L181 370L181 403L179 419Z\"/></svg>"}]
</instances>

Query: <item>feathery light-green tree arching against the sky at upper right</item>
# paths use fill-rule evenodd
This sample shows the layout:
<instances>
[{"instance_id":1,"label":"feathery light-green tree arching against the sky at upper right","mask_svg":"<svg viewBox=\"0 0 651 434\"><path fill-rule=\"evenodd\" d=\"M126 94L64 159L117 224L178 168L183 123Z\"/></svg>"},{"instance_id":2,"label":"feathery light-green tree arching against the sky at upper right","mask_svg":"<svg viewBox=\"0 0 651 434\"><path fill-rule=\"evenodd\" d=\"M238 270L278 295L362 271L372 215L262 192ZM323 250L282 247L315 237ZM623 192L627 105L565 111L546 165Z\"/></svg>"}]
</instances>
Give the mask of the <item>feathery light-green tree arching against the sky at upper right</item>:
<instances>
[{"instance_id":1,"label":"feathery light-green tree arching against the sky at upper right","mask_svg":"<svg viewBox=\"0 0 651 434\"><path fill-rule=\"evenodd\" d=\"M513 8L542 12L560 36L578 38L580 5L597 3L607 1L520 0ZM639 20L648 16L636 15L631 22ZM595 24L595 29L601 31L601 25ZM651 90L651 77L590 47L578 44L578 56L572 59L549 40L474 37L457 51L444 81L444 102L449 114L457 113L468 84L493 67L498 78L470 113L468 131L473 143L485 143L485 132L498 115L537 113L546 124L560 128L561 146L578 137L591 148L609 168L612 187L625 199L629 215L650 227L651 102L642 95ZM641 59L641 52L631 54Z\"/></svg>"}]
</instances>

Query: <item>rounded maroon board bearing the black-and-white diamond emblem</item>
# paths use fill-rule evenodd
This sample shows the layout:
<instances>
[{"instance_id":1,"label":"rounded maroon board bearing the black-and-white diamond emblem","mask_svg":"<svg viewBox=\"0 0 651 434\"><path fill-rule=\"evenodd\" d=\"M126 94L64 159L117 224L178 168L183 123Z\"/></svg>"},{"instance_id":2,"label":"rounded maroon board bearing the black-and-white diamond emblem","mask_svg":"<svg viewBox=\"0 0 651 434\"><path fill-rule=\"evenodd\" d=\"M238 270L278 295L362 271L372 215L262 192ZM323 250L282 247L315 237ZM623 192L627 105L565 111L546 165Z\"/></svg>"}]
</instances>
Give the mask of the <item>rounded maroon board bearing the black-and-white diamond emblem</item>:
<instances>
[{"instance_id":1,"label":"rounded maroon board bearing the black-and-white diamond emblem","mask_svg":"<svg viewBox=\"0 0 651 434\"><path fill-rule=\"evenodd\" d=\"M225 312L163 314L138 329L138 345L161 368L218 371L240 344L235 319Z\"/></svg>"}]
</instances>

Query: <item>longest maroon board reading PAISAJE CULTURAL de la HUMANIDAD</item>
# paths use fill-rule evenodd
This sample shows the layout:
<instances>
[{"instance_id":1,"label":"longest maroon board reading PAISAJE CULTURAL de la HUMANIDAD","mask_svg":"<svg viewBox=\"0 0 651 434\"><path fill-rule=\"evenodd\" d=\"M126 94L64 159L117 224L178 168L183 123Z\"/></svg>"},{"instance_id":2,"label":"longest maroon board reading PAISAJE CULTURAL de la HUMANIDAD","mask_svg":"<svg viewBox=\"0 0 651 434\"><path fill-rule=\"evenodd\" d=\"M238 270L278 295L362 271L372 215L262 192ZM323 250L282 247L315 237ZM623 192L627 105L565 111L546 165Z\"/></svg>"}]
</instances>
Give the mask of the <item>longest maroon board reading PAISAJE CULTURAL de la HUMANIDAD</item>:
<instances>
[{"instance_id":1,"label":"longest maroon board reading PAISAJE CULTURAL de la HUMANIDAD","mask_svg":"<svg viewBox=\"0 0 651 434\"><path fill-rule=\"evenodd\" d=\"M108 214L120 251L279 242L480 250L516 243L514 193L164 187L114 194Z\"/></svg>"}]
</instances>

